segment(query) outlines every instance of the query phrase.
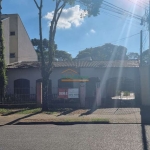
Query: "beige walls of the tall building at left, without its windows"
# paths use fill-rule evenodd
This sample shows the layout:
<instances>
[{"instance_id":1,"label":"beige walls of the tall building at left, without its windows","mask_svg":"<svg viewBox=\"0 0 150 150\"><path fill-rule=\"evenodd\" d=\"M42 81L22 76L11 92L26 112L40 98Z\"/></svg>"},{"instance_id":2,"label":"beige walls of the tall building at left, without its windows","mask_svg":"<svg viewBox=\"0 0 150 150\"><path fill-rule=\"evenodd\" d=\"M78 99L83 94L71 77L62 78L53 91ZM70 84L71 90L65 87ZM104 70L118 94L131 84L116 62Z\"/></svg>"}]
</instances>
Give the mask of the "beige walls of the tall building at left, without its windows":
<instances>
[{"instance_id":1,"label":"beige walls of the tall building at left, without its windows","mask_svg":"<svg viewBox=\"0 0 150 150\"><path fill-rule=\"evenodd\" d=\"M10 58L10 63L18 61L37 61L37 54L32 46L28 33L18 14L2 15L2 18L9 18L9 34L5 41L9 44L9 52L15 53L15 58ZM10 36L10 32L15 32L15 35Z\"/></svg>"}]
</instances>

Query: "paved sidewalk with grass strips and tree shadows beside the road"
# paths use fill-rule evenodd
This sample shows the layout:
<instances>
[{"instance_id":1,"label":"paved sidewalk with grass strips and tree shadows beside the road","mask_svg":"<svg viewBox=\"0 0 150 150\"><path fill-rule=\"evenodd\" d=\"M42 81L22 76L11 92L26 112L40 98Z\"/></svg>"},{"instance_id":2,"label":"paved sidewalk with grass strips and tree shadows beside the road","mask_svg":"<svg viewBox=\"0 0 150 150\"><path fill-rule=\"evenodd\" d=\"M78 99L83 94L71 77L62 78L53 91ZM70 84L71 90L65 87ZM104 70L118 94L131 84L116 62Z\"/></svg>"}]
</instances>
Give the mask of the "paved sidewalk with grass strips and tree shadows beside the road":
<instances>
[{"instance_id":1,"label":"paved sidewalk with grass strips and tree shadows beside the road","mask_svg":"<svg viewBox=\"0 0 150 150\"><path fill-rule=\"evenodd\" d=\"M147 111L144 112L148 114ZM144 115L144 114L143 114ZM144 115L145 116L145 115ZM89 110L74 110L68 113L54 114L11 114L8 116L0 115L0 125L13 124L44 124L44 123L147 123L148 117L143 122L140 108L107 108L97 109L93 112Z\"/></svg>"}]
</instances>

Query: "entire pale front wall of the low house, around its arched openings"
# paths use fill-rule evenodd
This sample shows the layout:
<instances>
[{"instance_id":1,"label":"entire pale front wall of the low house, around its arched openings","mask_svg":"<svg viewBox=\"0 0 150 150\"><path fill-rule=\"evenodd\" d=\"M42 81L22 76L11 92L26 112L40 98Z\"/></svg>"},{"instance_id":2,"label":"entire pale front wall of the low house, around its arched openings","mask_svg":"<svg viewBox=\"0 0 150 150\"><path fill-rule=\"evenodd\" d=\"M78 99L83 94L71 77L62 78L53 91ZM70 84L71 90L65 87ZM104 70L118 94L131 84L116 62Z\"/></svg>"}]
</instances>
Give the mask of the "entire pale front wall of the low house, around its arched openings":
<instances>
[{"instance_id":1,"label":"entire pale front wall of the low house, around its arched openings","mask_svg":"<svg viewBox=\"0 0 150 150\"><path fill-rule=\"evenodd\" d=\"M50 75L50 79L52 80L52 87L58 87L58 80L62 78L62 72L68 68L54 68L52 74ZM73 70L76 70L73 68ZM106 75L105 73L109 73ZM101 80L101 87L104 87L102 93L105 91L106 81L112 77L119 76L119 69L112 68L107 72L107 69L99 69L99 68L81 68L80 70L81 76L90 77L99 77ZM125 68L122 70L122 77L127 77L129 79L133 79L135 82L138 82L138 68ZM35 93L36 80L41 79L41 70L38 68L28 68L28 69L8 69L8 86L11 92L14 90L14 80L24 78L30 80L30 87L33 88L30 91L31 94ZM103 82L104 81L104 82ZM75 87L78 87L79 84L75 83Z\"/></svg>"}]
</instances>

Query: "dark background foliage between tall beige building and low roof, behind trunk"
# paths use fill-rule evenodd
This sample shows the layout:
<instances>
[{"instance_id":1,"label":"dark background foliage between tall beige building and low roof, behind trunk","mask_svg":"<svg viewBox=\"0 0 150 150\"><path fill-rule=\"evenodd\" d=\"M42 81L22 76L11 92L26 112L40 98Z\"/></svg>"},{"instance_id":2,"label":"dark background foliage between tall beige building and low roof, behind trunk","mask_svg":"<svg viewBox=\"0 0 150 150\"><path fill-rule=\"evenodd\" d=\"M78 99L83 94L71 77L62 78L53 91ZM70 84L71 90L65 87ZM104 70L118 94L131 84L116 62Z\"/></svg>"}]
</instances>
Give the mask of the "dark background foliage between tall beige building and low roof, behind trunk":
<instances>
[{"instance_id":1,"label":"dark background foliage between tall beige building and low roof, behind trunk","mask_svg":"<svg viewBox=\"0 0 150 150\"><path fill-rule=\"evenodd\" d=\"M31 39L31 42L37 52L38 60L41 61L40 55L40 40L39 39ZM44 60L48 62L48 40L43 39L43 52L44 52ZM57 44L55 44L55 58L59 59L62 58L64 61L72 60L71 54L67 53L66 51L57 50Z\"/></svg>"}]
</instances>

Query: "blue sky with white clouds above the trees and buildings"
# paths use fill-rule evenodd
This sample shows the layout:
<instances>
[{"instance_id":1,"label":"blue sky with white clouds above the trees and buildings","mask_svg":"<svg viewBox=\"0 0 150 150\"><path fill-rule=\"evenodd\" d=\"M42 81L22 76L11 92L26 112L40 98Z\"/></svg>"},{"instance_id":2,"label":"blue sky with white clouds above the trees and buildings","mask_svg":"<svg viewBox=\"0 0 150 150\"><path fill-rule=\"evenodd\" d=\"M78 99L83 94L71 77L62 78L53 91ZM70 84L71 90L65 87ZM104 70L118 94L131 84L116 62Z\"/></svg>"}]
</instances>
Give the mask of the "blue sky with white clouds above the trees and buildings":
<instances>
[{"instance_id":1,"label":"blue sky with white clouds above the trees and buildings","mask_svg":"<svg viewBox=\"0 0 150 150\"><path fill-rule=\"evenodd\" d=\"M55 3L53 0L43 1L43 38L48 39ZM106 0L106 2L144 16L145 3L148 3L148 0ZM143 50L148 48L147 27L141 26L139 20L129 19L126 15L117 15L102 8L96 17L81 18L80 14L83 12L83 8L77 4L63 10L55 38L59 50L65 50L72 54L72 57L76 57L79 51L86 48L112 43L125 46L128 53L139 53L141 30L144 31ZM19 14L30 39L39 38L38 9L34 0L3 0L2 13Z\"/></svg>"}]
</instances>

